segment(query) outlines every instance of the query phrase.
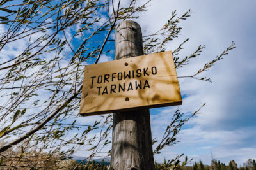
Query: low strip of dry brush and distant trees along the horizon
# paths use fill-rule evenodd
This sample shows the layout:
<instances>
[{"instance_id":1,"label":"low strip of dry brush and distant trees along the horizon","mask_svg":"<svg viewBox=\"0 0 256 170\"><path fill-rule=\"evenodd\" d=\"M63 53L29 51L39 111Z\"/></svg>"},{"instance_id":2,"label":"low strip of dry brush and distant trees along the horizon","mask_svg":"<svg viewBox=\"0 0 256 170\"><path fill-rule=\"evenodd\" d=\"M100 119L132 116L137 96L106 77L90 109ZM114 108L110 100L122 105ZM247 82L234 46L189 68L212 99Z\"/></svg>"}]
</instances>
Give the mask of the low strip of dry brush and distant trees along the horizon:
<instances>
[{"instance_id":1,"label":"low strip of dry brush and distant trees along the horizon","mask_svg":"<svg viewBox=\"0 0 256 170\"><path fill-rule=\"evenodd\" d=\"M52 155L45 153L40 157L35 157L36 151L31 152L29 157L20 157L20 152L13 152L13 157L5 159L0 164L6 165L6 167L22 168L22 169L67 169L71 170L76 167L76 170L107 170L109 169L109 162L105 162L104 159L101 162L92 160L90 162L83 162L82 160L65 159L60 154ZM228 164L220 162L220 160L212 159L211 164L207 165L199 160L194 162L180 162L170 164L170 160L164 159L162 164L155 161L156 170L167 169L182 169L182 170L256 170L255 159L248 159L243 165L239 165L235 160L230 160ZM28 164L37 164L37 167L28 166Z\"/></svg>"}]
</instances>

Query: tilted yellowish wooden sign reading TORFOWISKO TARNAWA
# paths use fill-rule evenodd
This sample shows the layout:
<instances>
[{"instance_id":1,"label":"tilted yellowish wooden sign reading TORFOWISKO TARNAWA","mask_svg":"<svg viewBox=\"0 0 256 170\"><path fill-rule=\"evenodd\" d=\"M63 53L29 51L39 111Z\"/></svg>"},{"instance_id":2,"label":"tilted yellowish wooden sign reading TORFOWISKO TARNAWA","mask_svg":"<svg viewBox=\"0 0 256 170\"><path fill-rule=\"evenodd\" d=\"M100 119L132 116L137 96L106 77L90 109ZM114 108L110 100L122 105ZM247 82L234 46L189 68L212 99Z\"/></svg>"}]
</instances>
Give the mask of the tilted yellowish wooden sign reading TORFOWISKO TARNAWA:
<instances>
[{"instance_id":1,"label":"tilted yellowish wooden sign reading TORFOWISKO TARNAWA","mask_svg":"<svg viewBox=\"0 0 256 170\"><path fill-rule=\"evenodd\" d=\"M83 116L182 104L172 52L85 66Z\"/></svg>"}]
</instances>

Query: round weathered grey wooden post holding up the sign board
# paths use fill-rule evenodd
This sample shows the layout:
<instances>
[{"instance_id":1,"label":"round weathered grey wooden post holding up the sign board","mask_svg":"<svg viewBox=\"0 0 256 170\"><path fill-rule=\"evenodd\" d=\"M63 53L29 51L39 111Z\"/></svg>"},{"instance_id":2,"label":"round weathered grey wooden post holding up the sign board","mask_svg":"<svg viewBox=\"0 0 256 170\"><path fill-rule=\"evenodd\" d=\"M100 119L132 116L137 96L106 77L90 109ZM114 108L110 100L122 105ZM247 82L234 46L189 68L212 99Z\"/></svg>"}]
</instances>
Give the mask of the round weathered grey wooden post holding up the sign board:
<instances>
[{"instance_id":1,"label":"round weathered grey wooden post holding up the sign board","mask_svg":"<svg viewBox=\"0 0 256 170\"><path fill-rule=\"evenodd\" d=\"M143 55L140 25L131 20L120 22L115 33L115 60L138 55ZM155 169L148 109L113 113L111 169Z\"/></svg>"}]
</instances>

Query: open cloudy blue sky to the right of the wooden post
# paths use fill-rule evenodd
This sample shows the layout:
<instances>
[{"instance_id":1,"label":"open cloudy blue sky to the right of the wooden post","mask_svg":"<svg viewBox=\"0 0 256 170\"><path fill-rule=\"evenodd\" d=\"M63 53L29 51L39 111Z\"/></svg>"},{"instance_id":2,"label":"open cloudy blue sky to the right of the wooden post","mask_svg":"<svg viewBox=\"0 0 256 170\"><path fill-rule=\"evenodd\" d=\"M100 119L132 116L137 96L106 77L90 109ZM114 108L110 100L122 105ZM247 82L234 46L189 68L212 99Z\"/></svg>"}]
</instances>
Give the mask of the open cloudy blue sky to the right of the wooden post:
<instances>
[{"instance_id":1,"label":"open cloudy blue sky to the right of the wooden post","mask_svg":"<svg viewBox=\"0 0 256 170\"><path fill-rule=\"evenodd\" d=\"M161 3L160 3L161 2ZM206 48L198 59L178 76L188 76L203 67L227 48L232 41L236 48L218 62L204 76L212 83L179 78L180 90L185 95L180 106L184 113L191 113L204 103L203 114L190 120L179 134L180 143L164 150L155 159L174 157L179 153L194 160L210 164L212 157L238 164L249 158L256 159L256 59L255 11L256 1L153 1L147 15L137 22L142 29L154 32L170 17L172 11L182 13L191 9L193 14L182 22L178 39L166 46L174 50L184 39L190 38L181 56L187 56L198 45ZM164 132L177 107L151 110L152 136Z\"/></svg>"}]
</instances>

